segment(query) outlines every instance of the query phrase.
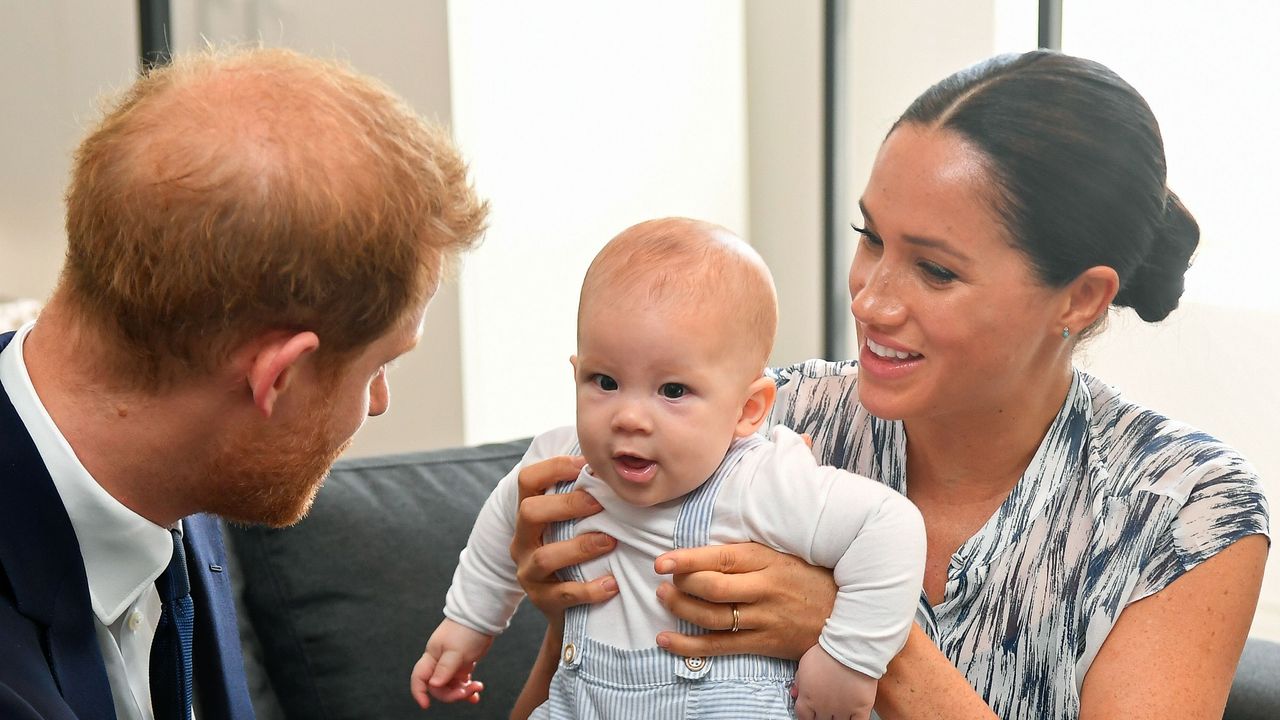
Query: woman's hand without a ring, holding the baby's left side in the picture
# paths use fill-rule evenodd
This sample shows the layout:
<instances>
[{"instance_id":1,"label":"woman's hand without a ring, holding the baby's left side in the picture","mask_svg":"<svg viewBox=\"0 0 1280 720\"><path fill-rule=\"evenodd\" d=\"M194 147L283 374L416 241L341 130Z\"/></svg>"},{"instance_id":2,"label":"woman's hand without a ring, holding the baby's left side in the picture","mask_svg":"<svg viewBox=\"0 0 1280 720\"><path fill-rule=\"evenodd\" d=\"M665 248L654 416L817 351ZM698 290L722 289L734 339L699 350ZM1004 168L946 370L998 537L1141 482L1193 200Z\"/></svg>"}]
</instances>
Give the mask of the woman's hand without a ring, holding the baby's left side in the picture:
<instances>
[{"instance_id":1,"label":"woman's hand without a ring, holding the baby's left side in the picture","mask_svg":"<svg viewBox=\"0 0 1280 720\"><path fill-rule=\"evenodd\" d=\"M564 610L575 605L605 601L618 592L612 575L585 583L562 582L557 570L599 557L617 543L604 533L584 533L573 539L543 544L549 523L586 518L600 511L600 503L584 491L543 495L556 483L572 480L582 469L582 457L561 455L520 470L520 511L511 541L516 579L529 600L558 625Z\"/></svg>"}]
</instances>

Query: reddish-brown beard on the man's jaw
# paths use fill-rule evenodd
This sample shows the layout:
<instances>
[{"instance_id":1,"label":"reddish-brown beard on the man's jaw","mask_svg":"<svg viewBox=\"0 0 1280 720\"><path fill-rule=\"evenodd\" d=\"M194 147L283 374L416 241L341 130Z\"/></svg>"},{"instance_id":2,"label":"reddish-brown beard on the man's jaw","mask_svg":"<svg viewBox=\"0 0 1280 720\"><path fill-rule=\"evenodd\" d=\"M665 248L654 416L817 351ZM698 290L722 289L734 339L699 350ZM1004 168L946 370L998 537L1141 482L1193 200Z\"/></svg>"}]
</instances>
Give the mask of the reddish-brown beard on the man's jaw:
<instances>
[{"instance_id":1,"label":"reddish-brown beard on the man's jaw","mask_svg":"<svg viewBox=\"0 0 1280 720\"><path fill-rule=\"evenodd\" d=\"M351 445L330 433L333 404L303 413L306 427L275 437L243 432L229 438L210 470L202 507L233 523L283 528L306 516L334 460Z\"/></svg>"}]
</instances>

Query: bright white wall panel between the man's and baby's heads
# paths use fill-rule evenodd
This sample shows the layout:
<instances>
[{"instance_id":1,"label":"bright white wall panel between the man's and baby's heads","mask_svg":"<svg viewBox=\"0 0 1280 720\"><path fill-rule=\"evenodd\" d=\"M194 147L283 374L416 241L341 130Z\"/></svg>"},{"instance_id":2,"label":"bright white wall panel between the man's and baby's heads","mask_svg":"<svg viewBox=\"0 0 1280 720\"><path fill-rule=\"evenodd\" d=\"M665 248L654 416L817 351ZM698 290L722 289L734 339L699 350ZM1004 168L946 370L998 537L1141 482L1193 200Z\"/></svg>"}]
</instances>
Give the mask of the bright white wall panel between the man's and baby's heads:
<instances>
[{"instance_id":1,"label":"bright white wall panel between the man's and baby's heads","mask_svg":"<svg viewBox=\"0 0 1280 720\"><path fill-rule=\"evenodd\" d=\"M449 5L453 127L488 240L462 275L466 439L573 421L586 265L639 220L744 232L741 3Z\"/></svg>"}]
</instances>

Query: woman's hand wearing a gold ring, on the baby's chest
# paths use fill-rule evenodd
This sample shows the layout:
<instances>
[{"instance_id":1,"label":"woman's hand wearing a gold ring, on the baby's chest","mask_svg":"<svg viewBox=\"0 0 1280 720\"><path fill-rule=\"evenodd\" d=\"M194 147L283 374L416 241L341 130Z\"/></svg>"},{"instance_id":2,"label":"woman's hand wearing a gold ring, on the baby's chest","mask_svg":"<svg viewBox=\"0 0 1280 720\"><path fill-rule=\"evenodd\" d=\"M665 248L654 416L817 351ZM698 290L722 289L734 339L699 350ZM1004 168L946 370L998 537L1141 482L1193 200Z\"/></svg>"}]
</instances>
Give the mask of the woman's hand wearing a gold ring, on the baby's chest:
<instances>
[{"instance_id":1,"label":"woman's hand wearing a gold ring, on the baby's chest","mask_svg":"<svg viewBox=\"0 0 1280 720\"><path fill-rule=\"evenodd\" d=\"M676 616L713 630L705 635L659 633L676 655L754 653L799 660L818 642L836 602L831 570L763 544L740 543L676 550L654 561L672 583L658 598ZM733 626L737 610L739 632Z\"/></svg>"}]
</instances>

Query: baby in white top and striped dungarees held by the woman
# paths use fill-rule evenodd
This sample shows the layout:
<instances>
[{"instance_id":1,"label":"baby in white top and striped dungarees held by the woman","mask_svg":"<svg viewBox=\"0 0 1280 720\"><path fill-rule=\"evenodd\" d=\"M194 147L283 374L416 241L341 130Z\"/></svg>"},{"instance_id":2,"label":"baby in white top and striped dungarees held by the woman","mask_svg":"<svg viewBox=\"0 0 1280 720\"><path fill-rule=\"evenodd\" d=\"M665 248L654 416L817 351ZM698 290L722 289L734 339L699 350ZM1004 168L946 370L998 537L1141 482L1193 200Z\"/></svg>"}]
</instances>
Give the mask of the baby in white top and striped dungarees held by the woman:
<instances>
[{"instance_id":1,"label":"baby in white top and striped dungarees held by the woman","mask_svg":"<svg viewBox=\"0 0 1280 720\"><path fill-rule=\"evenodd\" d=\"M556 492L584 488L604 510L557 524L548 541L617 538L613 552L564 579L612 574L618 594L567 611L559 667L534 717L868 717L915 614L924 525L881 483L818 466L794 432L774 428L772 442L756 434L776 393L764 375L776 327L764 261L724 228L650 220L600 251L579 301L576 430L534 438L485 502L447 619L413 667L419 705L429 694L474 694L471 669L522 598L509 555L520 468L580 454L582 473ZM698 630L659 603L654 559L742 541L835 570L836 606L799 666L749 655L677 657L655 644L662 630ZM726 629L736 632L731 607Z\"/></svg>"}]
</instances>

